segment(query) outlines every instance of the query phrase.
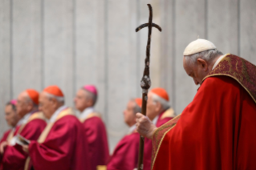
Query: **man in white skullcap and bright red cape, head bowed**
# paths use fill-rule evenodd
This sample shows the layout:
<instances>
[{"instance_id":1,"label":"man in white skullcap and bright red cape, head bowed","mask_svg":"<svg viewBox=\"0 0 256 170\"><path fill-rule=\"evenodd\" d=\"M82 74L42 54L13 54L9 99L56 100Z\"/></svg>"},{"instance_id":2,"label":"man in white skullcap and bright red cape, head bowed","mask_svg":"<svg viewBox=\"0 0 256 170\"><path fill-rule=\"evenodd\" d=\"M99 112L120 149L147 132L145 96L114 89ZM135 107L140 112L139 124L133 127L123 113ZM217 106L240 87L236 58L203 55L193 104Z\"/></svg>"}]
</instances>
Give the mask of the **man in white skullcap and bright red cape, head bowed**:
<instances>
[{"instance_id":1,"label":"man in white skullcap and bright red cape, head bowed","mask_svg":"<svg viewBox=\"0 0 256 170\"><path fill-rule=\"evenodd\" d=\"M183 67L201 86L181 115L159 128L136 115L152 169L256 169L256 67L205 39L185 48Z\"/></svg>"}]
</instances>

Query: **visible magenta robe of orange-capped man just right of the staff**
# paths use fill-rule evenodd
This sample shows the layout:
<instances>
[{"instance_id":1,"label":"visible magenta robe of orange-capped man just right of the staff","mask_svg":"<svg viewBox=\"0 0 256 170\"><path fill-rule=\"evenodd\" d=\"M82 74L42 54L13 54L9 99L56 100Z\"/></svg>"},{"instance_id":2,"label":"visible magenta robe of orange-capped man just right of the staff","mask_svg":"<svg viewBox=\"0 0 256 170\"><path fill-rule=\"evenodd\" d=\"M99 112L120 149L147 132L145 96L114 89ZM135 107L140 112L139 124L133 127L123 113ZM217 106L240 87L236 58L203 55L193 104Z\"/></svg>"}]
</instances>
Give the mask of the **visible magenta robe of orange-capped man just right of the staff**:
<instances>
[{"instance_id":1,"label":"visible magenta robe of orange-capped man just right of the staff","mask_svg":"<svg viewBox=\"0 0 256 170\"><path fill-rule=\"evenodd\" d=\"M161 112L159 115L156 127L161 127L164 123L168 122L170 119L173 119L174 111L173 108L169 108L166 111ZM152 160L152 140L144 138L144 158L143 158L143 169L151 169L151 160Z\"/></svg>"}]
</instances>

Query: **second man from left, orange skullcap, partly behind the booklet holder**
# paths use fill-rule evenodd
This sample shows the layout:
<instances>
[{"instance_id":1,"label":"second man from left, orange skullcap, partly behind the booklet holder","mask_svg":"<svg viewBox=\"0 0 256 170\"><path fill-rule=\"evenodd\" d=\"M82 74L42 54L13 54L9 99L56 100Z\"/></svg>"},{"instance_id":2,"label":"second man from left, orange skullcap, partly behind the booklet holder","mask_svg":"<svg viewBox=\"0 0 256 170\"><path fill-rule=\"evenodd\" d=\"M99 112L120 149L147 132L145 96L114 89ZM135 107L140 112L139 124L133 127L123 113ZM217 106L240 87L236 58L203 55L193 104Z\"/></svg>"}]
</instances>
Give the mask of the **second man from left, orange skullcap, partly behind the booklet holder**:
<instances>
[{"instance_id":1,"label":"second man from left, orange skullcap, partly behind the booklet holder","mask_svg":"<svg viewBox=\"0 0 256 170\"><path fill-rule=\"evenodd\" d=\"M21 117L21 125L15 129L14 137L6 146L2 156L3 169L24 169L27 153L16 144L20 135L28 140L37 140L47 123L42 112L38 111L39 92L33 89L22 91L17 99L17 113Z\"/></svg>"}]
</instances>

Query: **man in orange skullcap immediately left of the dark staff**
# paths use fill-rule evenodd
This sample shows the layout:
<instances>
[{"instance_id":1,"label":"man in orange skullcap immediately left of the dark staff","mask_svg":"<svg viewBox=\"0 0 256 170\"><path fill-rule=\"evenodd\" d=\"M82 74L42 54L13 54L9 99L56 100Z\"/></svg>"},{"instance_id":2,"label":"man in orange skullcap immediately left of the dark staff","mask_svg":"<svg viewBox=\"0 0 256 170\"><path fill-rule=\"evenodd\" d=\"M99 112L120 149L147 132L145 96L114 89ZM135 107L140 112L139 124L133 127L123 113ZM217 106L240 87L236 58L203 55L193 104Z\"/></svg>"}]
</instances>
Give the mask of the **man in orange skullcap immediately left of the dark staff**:
<instances>
[{"instance_id":1,"label":"man in orange skullcap immediately left of the dark staff","mask_svg":"<svg viewBox=\"0 0 256 170\"><path fill-rule=\"evenodd\" d=\"M116 145L108 162L108 170L133 170L138 165L140 134L136 132L136 113L141 112L142 99L131 99L124 110L124 122L128 125L128 135Z\"/></svg>"}]
</instances>

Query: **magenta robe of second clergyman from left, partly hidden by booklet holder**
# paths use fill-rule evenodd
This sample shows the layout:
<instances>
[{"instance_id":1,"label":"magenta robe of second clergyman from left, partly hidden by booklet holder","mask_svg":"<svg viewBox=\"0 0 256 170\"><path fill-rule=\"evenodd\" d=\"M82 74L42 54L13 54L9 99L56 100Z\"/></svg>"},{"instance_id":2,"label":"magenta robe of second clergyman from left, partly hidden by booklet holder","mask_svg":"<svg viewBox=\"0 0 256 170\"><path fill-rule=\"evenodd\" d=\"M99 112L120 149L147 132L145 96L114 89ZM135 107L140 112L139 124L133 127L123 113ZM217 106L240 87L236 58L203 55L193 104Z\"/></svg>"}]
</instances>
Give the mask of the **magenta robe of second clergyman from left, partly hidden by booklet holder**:
<instances>
[{"instance_id":1,"label":"magenta robe of second clergyman from left, partly hidden by booklet holder","mask_svg":"<svg viewBox=\"0 0 256 170\"><path fill-rule=\"evenodd\" d=\"M36 112L30 115L28 122L22 124L15 133L18 131L18 134L27 140L37 140L46 125L43 113ZM20 145L8 145L2 156L2 167L8 170L23 170L27 156L27 153L22 150Z\"/></svg>"}]
</instances>

